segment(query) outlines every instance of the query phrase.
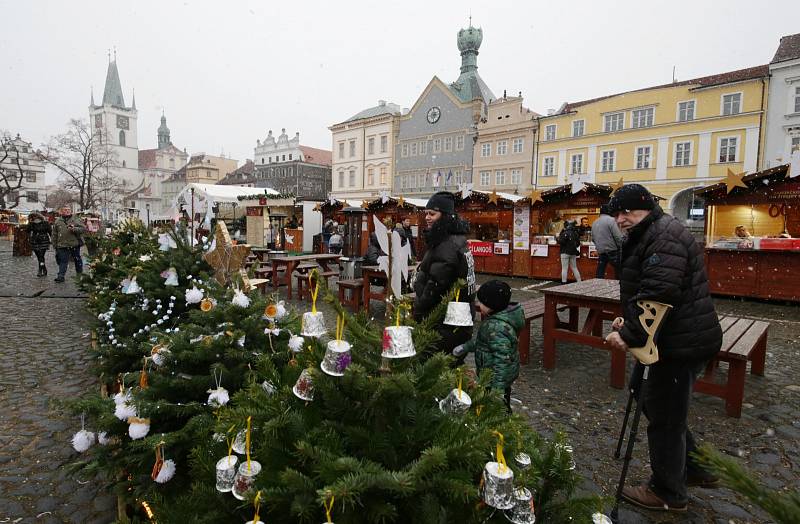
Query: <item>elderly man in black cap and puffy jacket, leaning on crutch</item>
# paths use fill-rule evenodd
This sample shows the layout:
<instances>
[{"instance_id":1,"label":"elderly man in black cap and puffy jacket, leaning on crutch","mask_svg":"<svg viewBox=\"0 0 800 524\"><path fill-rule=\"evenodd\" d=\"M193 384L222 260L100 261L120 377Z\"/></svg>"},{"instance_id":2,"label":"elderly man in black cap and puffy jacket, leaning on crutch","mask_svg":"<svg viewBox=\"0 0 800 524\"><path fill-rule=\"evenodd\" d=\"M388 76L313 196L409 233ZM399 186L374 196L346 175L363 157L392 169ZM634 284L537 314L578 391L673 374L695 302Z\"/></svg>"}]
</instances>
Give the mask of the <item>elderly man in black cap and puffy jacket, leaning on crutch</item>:
<instances>
[{"instance_id":1,"label":"elderly man in black cap and puffy jacket, leaning on crutch","mask_svg":"<svg viewBox=\"0 0 800 524\"><path fill-rule=\"evenodd\" d=\"M648 509L685 511L687 485L710 487L716 481L689 456L695 442L687 426L695 378L722 345L703 251L686 227L665 214L641 185L617 190L609 208L628 238L619 275L624 322L615 322L615 331L606 340L623 350L643 346L647 333L639 323L636 301L672 306L659 332L659 361L650 366L648 380L639 388L649 420L652 476L647 485L625 488L623 499ZM632 381L641 380L642 371L637 363Z\"/></svg>"}]
</instances>

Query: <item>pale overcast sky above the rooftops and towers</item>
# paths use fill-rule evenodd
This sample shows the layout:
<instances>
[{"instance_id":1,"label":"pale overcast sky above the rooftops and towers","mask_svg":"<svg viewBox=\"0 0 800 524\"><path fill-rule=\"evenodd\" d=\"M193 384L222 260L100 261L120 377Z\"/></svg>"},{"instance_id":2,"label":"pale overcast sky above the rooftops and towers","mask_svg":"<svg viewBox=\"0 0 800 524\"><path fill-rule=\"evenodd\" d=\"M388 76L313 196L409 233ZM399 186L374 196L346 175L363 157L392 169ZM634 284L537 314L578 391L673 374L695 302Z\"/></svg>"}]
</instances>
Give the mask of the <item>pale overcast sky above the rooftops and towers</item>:
<instances>
[{"instance_id":1,"label":"pale overcast sky above the rooftops and towers","mask_svg":"<svg viewBox=\"0 0 800 524\"><path fill-rule=\"evenodd\" d=\"M800 2L0 0L0 130L35 144L102 99L107 50L136 90L139 147L242 162L269 129L330 149L328 126L458 77L456 33L484 31L481 76L544 113L562 102L770 61Z\"/></svg>"}]
</instances>

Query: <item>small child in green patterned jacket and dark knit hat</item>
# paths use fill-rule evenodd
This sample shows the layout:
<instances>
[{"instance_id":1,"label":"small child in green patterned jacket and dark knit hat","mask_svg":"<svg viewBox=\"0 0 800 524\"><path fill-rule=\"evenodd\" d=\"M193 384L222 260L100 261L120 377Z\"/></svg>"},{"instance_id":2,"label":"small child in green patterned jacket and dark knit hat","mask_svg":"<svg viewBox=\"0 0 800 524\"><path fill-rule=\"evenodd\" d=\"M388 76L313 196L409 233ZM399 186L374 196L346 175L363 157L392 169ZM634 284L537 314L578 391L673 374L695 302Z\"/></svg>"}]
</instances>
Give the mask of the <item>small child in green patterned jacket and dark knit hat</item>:
<instances>
[{"instance_id":1,"label":"small child in green patterned jacket and dark knit hat","mask_svg":"<svg viewBox=\"0 0 800 524\"><path fill-rule=\"evenodd\" d=\"M490 385L503 391L510 413L511 384L519 376L517 341L525 325L525 314L522 306L510 304L511 288L500 280L490 280L481 285L477 298L476 305L486 319L481 322L475 338L457 346L453 355L462 357L475 352L478 373L484 369L492 370Z\"/></svg>"}]
</instances>

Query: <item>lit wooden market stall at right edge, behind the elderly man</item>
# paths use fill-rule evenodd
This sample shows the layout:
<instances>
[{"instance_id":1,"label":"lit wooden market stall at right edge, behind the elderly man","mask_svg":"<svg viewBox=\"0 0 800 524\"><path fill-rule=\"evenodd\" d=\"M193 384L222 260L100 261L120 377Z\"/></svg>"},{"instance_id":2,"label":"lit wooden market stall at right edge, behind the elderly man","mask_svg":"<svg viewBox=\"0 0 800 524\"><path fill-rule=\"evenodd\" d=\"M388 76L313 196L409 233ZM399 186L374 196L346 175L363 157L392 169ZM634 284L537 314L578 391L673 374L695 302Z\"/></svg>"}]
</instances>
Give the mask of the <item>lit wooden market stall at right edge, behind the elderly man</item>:
<instances>
[{"instance_id":1,"label":"lit wooden market stall at right edge, behind the elderly man","mask_svg":"<svg viewBox=\"0 0 800 524\"><path fill-rule=\"evenodd\" d=\"M800 177L789 175L782 165L744 176L747 188L697 190L712 293L800 302Z\"/></svg>"}]
</instances>

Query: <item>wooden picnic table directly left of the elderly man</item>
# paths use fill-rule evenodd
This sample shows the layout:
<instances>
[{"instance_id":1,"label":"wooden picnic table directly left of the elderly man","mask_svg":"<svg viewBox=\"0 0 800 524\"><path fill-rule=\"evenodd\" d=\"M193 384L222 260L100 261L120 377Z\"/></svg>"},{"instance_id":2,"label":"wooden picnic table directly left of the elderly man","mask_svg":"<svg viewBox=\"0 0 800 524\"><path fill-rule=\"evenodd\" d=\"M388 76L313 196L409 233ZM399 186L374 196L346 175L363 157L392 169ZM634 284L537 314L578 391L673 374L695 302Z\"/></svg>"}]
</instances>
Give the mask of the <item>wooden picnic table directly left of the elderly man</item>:
<instances>
[{"instance_id":1,"label":"wooden picnic table directly left of the elderly man","mask_svg":"<svg viewBox=\"0 0 800 524\"><path fill-rule=\"evenodd\" d=\"M603 321L622 316L619 299L619 282L593 278L547 289L544 294L544 318L542 332L544 348L542 365L545 369L556 366L556 341L569 340L611 352L611 386L625 387L625 354L623 350L613 349L603 337ZM569 321L558 318L559 306L569 310ZM578 330L580 309L589 313L583 326Z\"/></svg>"}]
</instances>

